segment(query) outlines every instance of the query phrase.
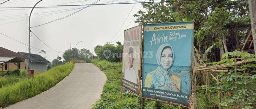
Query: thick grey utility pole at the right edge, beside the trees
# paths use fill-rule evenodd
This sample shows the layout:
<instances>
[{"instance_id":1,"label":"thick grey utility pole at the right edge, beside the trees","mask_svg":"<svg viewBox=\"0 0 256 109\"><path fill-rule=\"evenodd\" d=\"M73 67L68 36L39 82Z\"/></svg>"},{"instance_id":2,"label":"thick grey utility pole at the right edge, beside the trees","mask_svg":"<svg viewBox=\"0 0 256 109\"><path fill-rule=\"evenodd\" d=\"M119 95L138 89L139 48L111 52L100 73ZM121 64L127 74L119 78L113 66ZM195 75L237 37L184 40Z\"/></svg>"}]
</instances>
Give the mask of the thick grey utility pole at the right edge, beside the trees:
<instances>
[{"instance_id":1,"label":"thick grey utility pole at the right edge, beside the trees","mask_svg":"<svg viewBox=\"0 0 256 109\"><path fill-rule=\"evenodd\" d=\"M254 54L256 54L256 0L248 0L248 4L251 16Z\"/></svg>"}]
</instances>

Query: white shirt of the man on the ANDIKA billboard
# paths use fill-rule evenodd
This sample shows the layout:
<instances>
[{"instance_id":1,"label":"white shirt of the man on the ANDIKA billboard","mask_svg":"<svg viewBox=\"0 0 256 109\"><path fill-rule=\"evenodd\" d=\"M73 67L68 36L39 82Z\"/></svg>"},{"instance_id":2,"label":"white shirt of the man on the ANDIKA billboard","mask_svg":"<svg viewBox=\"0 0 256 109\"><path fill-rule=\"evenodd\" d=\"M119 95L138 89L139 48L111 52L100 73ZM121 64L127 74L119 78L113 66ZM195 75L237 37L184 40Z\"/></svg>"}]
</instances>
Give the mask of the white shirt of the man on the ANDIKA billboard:
<instances>
[{"instance_id":1,"label":"white shirt of the man on the ANDIKA billboard","mask_svg":"<svg viewBox=\"0 0 256 109\"><path fill-rule=\"evenodd\" d=\"M131 68L128 67L125 70L125 79L128 80L128 81L131 81L135 84L138 84L137 75L136 75L133 67L131 67Z\"/></svg>"}]
</instances>

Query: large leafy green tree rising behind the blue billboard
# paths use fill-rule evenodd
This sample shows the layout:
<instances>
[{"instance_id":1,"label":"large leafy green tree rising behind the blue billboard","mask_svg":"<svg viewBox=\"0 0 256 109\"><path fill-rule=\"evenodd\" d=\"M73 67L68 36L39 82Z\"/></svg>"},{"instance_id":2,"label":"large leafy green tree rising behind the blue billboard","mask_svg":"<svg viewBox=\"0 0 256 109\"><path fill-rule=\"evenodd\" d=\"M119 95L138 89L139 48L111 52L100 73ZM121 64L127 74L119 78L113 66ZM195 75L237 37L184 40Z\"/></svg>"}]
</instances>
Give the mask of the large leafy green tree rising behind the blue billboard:
<instances>
[{"instance_id":1,"label":"large leafy green tree rising behind the blue billboard","mask_svg":"<svg viewBox=\"0 0 256 109\"><path fill-rule=\"evenodd\" d=\"M153 24L193 19L195 21L195 46L200 52L211 47L212 50L209 49L207 56L210 60L221 60L218 57L224 53L224 50L228 52L239 49L240 44L244 43L244 37L249 28L248 24L250 24L250 20L247 20L250 19L247 0L169 1L163 3L150 1L151 3L142 4L146 11L139 11L134 15L137 17L136 23Z\"/></svg>"}]
</instances>

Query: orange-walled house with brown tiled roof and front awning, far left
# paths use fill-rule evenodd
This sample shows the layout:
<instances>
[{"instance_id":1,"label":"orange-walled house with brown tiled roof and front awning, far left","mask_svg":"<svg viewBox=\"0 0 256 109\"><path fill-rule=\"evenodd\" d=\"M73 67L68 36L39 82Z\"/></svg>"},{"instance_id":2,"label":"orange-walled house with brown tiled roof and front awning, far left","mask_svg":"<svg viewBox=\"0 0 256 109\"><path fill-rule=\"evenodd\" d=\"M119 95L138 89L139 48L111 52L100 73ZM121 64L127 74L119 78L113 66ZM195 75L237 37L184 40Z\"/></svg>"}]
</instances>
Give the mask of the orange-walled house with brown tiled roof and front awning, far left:
<instances>
[{"instance_id":1,"label":"orange-walled house with brown tiled roof and front awning, far left","mask_svg":"<svg viewBox=\"0 0 256 109\"><path fill-rule=\"evenodd\" d=\"M2 70L26 69L26 59L28 58L19 53L0 47L0 68Z\"/></svg>"}]
</instances>

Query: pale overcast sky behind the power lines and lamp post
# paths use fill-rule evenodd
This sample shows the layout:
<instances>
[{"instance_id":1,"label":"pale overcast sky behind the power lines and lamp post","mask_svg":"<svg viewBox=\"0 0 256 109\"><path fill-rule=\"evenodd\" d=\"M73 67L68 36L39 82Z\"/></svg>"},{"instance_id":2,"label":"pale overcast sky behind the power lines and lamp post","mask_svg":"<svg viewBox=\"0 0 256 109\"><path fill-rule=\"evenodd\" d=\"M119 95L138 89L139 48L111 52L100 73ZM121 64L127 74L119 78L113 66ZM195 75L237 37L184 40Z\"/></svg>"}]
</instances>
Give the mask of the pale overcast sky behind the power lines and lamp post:
<instances>
[{"instance_id":1,"label":"pale overcast sky behind the power lines and lamp post","mask_svg":"<svg viewBox=\"0 0 256 109\"><path fill-rule=\"evenodd\" d=\"M0 3L5 0L0 0ZM4 4L1 4L0 7L32 7L39 0L10 0ZM43 0L37 6L49 6L49 5L69 5L69 4L91 4L96 0L88 0L85 2L76 2L82 0ZM114 0L101 0L98 3L106 3ZM118 0L115 2L123 2L130 0ZM141 1L141 0L138 0ZM69 3L76 2L76 3ZM135 1L134 1L135 2ZM68 3L68 4L62 4ZM124 29L128 26L130 21L133 18L133 15L138 12L141 7L141 4L135 4L133 10L131 11L129 17L125 21L124 26L117 33L119 28L122 26L125 18L129 14L132 6L134 4L119 4L119 5L97 5L88 7L70 17L67 17L62 20L58 20L40 27L31 28L42 41L44 41L49 47L54 50L64 52L67 49L70 49L70 41L72 42L72 48L75 47L77 42L83 41L82 43L77 44L78 49L87 48L91 52L94 52L94 47L98 44L103 45L106 42L115 42L120 41L123 44L123 35L120 36ZM34 9L31 16L31 27L44 24L46 22L55 20L67 16L77 10L72 10L64 13L49 15L50 11L67 11L65 9L73 9L76 7L82 6L65 6L65 7L56 7L56 8L44 8L44 9ZM141 9L144 10L144 9ZM0 9L0 33L3 33L7 36L10 36L20 42L28 44L28 17L31 9ZM50 13L42 13L50 12ZM61 12L61 11L59 11ZM22 16L15 16L22 15ZM45 16L48 15L48 16ZM10 17L6 17L10 16ZM44 17L40 17L44 16ZM36 18L38 17L38 18ZM133 20L135 20L134 18ZM24 21L20 21L24 20ZM18 22L15 22L18 21ZM13 22L13 23L9 23ZM9 24L6 24L9 23ZM128 28L131 28L135 25L134 21L131 22ZM138 25L138 24L136 24ZM115 34L116 37L110 41ZM119 37L120 36L120 37ZM119 37L119 38L117 38ZM116 40L117 38L117 40ZM116 40L116 41L115 41ZM114 42L115 41L115 42ZM46 50L46 54L39 53L40 50L31 48L32 53L39 54L43 57L46 57L47 60L52 61L57 56L62 57L62 53L54 52L42 42L40 42L35 36L31 37L31 46ZM28 52L28 46L18 43L8 37L0 34L0 46L14 52ZM47 52L53 51L53 52Z\"/></svg>"}]
</instances>

